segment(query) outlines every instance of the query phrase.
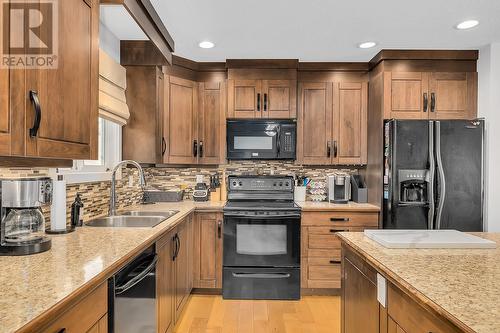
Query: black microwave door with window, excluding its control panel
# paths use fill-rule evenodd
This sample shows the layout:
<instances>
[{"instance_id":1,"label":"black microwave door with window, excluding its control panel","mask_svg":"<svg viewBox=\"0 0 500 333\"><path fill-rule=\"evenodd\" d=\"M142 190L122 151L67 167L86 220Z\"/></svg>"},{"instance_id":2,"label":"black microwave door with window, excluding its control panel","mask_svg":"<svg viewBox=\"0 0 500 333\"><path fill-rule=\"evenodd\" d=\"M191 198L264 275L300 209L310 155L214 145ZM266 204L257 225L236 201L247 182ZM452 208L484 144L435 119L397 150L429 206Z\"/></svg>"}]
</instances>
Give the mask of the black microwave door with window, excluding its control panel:
<instances>
[{"instance_id":1,"label":"black microwave door with window, excluding its control panel","mask_svg":"<svg viewBox=\"0 0 500 333\"><path fill-rule=\"evenodd\" d=\"M279 125L270 122L227 122L227 158L276 159L279 155Z\"/></svg>"}]
</instances>

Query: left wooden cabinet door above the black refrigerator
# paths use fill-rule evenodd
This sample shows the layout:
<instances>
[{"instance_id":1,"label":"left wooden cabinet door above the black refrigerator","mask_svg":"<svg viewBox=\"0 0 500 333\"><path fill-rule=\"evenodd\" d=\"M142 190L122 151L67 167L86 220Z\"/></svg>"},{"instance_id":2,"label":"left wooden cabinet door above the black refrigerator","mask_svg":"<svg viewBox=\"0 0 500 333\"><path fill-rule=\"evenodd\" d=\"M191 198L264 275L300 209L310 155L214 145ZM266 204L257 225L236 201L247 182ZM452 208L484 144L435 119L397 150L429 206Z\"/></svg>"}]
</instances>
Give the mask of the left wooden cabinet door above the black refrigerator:
<instances>
[{"instance_id":1,"label":"left wooden cabinet door above the black refrigerator","mask_svg":"<svg viewBox=\"0 0 500 333\"><path fill-rule=\"evenodd\" d=\"M427 119L429 75L420 72L384 73L384 118Z\"/></svg>"}]
</instances>

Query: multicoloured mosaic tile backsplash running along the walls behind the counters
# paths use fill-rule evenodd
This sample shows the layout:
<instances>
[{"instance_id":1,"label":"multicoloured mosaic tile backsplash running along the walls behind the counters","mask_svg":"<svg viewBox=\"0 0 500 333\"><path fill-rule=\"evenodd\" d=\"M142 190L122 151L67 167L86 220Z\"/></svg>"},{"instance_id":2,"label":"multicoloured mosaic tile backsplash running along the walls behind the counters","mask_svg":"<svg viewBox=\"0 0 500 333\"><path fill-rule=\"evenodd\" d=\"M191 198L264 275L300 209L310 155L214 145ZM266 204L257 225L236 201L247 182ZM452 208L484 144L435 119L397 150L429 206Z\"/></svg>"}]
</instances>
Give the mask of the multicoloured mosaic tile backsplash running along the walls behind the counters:
<instances>
[{"instance_id":1,"label":"multicoloured mosaic tile backsplash running along the walls behind the counters","mask_svg":"<svg viewBox=\"0 0 500 333\"><path fill-rule=\"evenodd\" d=\"M328 174L334 172L357 173L356 169L338 169L332 167L309 167L296 165L293 162L283 161L245 161L230 162L218 167L186 167L186 168L145 168L148 186L161 190L178 189L185 187L184 199L192 198L192 191L196 185L196 175L204 175L205 181L208 177L218 172L222 175L300 175L311 178L314 181L324 181ZM0 177L33 177L48 174L48 169L1 169ZM129 184L129 179L132 183ZM137 170L125 169L122 179L117 181L117 205L118 209L138 204L141 200L141 192L138 187ZM84 221L106 215L108 213L109 192L111 182L92 182L81 184L70 184L67 186L67 212L68 222L70 206L75 200L76 194L80 193L84 204ZM47 226L50 224L50 209L45 213Z\"/></svg>"}]
</instances>

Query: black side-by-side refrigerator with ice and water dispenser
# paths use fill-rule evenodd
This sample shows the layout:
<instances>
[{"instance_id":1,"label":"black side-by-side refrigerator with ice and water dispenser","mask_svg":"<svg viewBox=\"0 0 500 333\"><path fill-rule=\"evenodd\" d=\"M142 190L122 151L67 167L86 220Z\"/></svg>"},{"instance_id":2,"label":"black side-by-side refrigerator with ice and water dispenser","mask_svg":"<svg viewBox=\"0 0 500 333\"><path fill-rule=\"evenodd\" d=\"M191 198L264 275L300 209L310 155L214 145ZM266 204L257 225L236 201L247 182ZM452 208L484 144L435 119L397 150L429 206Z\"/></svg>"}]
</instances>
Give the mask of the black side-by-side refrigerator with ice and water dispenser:
<instances>
[{"instance_id":1,"label":"black side-by-side refrigerator with ice and water dispenser","mask_svg":"<svg viewBox=\"0 0 500 333\"><path fill-rule=\"evenodd\" d=\"M385 123L384 229L483 230L483 120Z\"/></svg>"}]
</instances>

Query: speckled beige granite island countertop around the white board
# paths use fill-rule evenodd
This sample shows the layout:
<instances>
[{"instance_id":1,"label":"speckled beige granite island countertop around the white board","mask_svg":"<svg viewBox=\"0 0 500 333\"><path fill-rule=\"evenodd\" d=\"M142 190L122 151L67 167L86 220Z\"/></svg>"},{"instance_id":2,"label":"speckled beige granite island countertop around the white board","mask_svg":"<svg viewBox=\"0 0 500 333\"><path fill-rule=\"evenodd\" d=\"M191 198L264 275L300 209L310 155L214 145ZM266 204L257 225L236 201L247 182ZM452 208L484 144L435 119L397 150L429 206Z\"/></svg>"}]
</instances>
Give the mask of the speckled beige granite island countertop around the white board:
<instances>
[{"instance_id":1,"label":"speckled beige granite island countertop around the white board","mask_svg":"<svg viewBox=\"0 0 500 333\"><path fill-rule=\"evenodd\" d=\"M339 233L381 273L450 321L500 330L500 233L474 233L496 249L387 249L363 233ZM460 326L460 325L459 325Z\"/></svg>"}]
</instances>

